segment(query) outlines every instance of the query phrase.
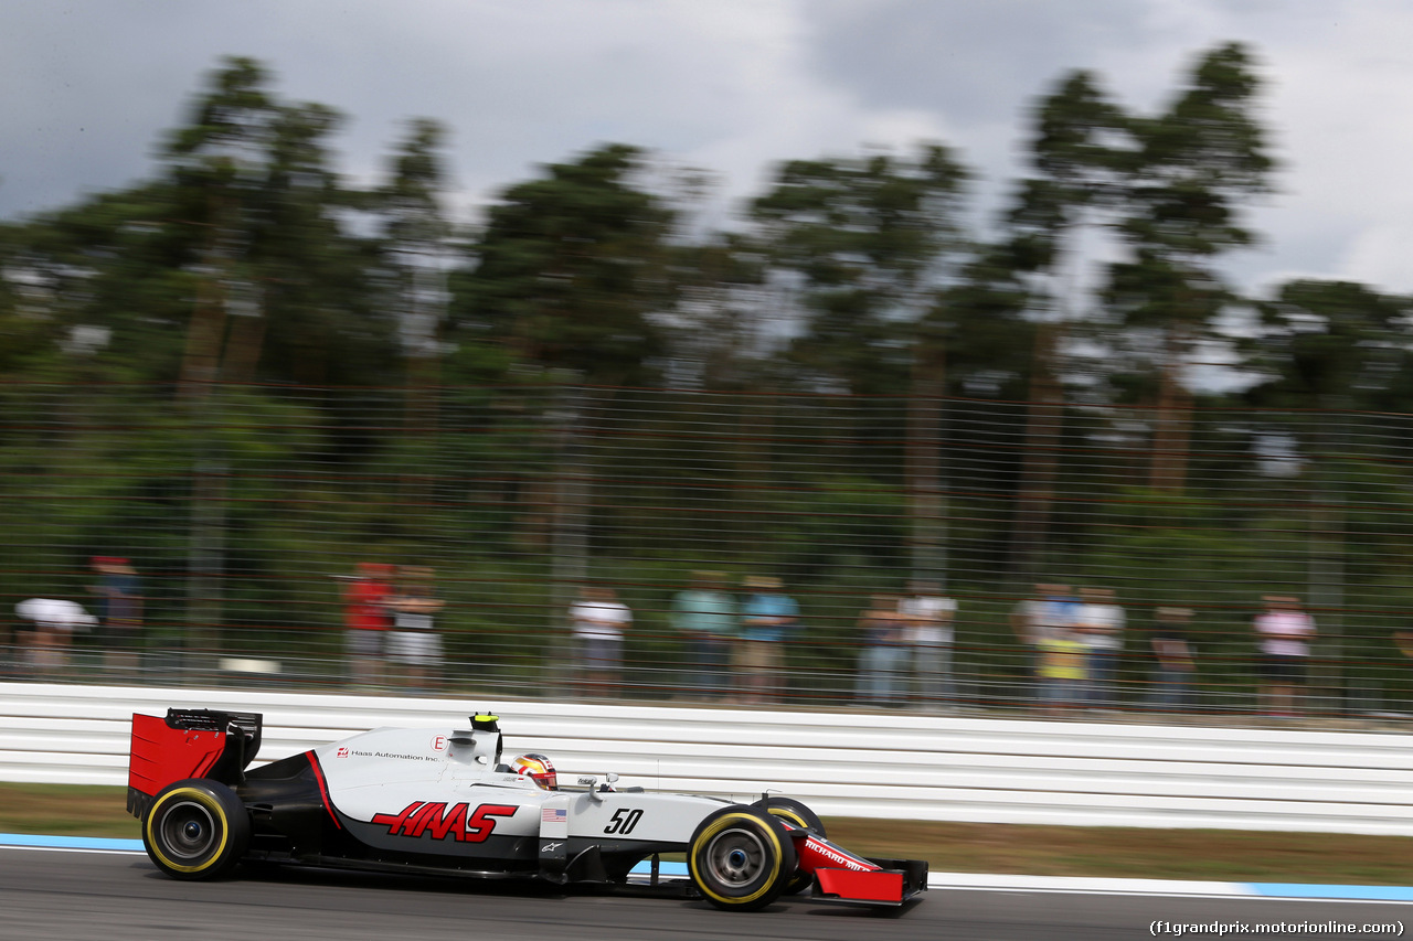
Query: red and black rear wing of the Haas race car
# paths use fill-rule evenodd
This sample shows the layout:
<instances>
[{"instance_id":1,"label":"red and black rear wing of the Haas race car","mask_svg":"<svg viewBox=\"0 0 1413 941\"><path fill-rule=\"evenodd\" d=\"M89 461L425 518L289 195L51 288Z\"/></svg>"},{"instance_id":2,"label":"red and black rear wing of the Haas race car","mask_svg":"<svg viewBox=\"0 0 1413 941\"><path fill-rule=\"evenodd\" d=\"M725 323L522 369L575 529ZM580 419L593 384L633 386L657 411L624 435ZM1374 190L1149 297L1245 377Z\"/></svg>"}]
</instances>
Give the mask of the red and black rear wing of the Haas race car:
<instances>
[{"instance_id":1,"label":"red and black rear wing of the Haas race car","mask_svg":"<svg viewBox=\"0 0 1413 941\"><path fill-rule=\"evenodd\" d=\"M133 715L127 763L127 812L141 819L160 790L188 777L239 784L260 750L259 712L168 709L167 718Z\"/></svg>"}]
</instances>

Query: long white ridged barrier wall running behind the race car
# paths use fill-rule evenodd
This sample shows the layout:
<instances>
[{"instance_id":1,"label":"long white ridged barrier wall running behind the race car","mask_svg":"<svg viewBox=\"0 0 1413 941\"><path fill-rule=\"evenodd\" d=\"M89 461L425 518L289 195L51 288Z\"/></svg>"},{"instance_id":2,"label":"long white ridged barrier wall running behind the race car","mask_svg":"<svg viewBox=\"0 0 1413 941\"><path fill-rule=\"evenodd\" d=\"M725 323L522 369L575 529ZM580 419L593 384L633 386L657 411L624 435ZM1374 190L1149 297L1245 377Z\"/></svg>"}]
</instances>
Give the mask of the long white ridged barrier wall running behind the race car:
<instances>
[{"instance_id":1,"label":"long white ridged barrier wall running behind the race car","mask_svg":"<svg viewBox=\"0 0 1413 941\"><path fill-rule=\"evenodd\" d=\"M757 797L824 817L1413 836L1406 735L646 705L0 684L0 780L126 784L133 712L264 714L259 762L377 726L500 715L561 777Z\"/></svg>"}]
</instances>

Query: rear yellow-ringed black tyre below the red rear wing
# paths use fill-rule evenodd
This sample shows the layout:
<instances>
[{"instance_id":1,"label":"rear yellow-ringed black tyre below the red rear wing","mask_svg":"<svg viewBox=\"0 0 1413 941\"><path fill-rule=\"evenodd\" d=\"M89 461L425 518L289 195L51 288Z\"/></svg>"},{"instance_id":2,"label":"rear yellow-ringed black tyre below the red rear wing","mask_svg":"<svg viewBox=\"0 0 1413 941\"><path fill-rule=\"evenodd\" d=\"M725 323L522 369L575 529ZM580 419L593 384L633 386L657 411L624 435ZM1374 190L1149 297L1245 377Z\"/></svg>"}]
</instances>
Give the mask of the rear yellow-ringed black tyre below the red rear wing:
<instances>
[{"instance_id":1,"label":"rear yellow-ringed black tyre below the red rear wing","mask_svg":"<svg viewBox=\"0 0 1413 941\"><path fill-rule=\"evenodd\" d=\"M250 846L250 814L225 784L177 781L160 790L147 808L143 846L172 879L220 879Z\"/></svg>"}]
</instances>

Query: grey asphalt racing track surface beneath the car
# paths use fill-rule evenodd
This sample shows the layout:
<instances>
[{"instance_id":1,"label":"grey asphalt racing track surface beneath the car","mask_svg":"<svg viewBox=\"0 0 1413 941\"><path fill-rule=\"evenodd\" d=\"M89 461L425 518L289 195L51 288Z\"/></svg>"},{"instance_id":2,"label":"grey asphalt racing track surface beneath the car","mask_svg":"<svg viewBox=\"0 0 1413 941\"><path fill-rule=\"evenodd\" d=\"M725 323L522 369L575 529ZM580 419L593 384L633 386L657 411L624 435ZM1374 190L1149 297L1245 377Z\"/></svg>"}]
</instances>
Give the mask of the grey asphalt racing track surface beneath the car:
<instances>
[{"instance_id":1,"label":"grey asphalt racing track surface beneath the car","mask_svg":"<svg viewBox=\"0 0 1413 941\"><path fill-rule=\"evenodd\" d=\"M933 890L900 918L808 901L742 914L681 899L308 870L182 883L143 855L0 849L0 938L16 941L1108 941L1149 937L1156 918L1413 928L1413 906Z\"/></svg>"}]
</instances>

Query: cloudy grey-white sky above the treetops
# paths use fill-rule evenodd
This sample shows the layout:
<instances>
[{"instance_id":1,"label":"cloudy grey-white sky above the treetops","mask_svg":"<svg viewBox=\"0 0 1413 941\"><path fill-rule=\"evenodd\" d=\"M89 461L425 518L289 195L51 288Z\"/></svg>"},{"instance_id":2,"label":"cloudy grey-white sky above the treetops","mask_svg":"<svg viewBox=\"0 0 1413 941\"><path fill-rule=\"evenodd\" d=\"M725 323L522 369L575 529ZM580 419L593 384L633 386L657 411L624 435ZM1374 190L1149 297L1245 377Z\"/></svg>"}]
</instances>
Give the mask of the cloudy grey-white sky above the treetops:
<instances>
[{"instance_id":1,"label":"cloudy grey-white sky above the treetops","mask_svg":"<svg viewBox=\"0 0 1413 941\"><path fill-rule=\"evenodd\" d=\"M0 218L153 172L222 55L288 100L348 116L370 178L400 123L452 131L473 206L601 141L712 171L722 199L774 161L927 138L978 177L1019 172L1026 116L1084 68L1156 109L1194 57L1248 42L1266 79L1279 192L1249 285L1342 277L1413 291L1413 4L1407 0L0 0ZM468 209L469 212L469 209Z\"/></svg>"}]
</instances>

